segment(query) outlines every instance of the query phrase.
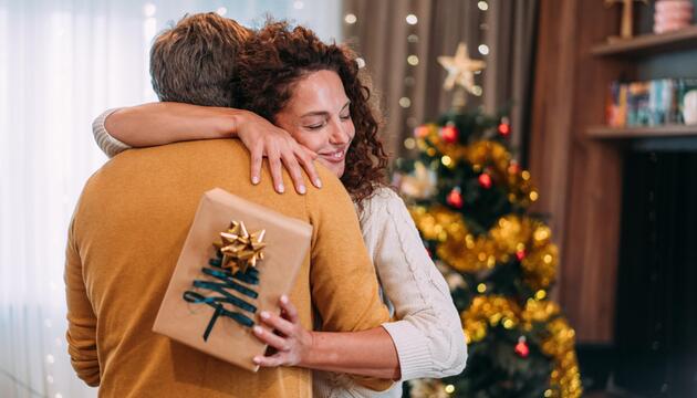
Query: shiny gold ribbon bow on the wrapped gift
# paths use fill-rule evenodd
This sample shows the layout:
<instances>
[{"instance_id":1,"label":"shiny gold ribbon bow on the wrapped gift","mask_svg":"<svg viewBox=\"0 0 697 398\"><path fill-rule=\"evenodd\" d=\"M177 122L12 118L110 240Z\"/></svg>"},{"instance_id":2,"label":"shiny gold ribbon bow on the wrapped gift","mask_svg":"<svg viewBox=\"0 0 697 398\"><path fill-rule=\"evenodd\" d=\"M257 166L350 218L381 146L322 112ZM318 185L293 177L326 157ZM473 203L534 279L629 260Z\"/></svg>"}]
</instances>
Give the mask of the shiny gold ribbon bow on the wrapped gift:
<instances>
[{"instance_id":1,"label":"shiny gold ribbon bow on the wrapped gift","mask_svg":"<svg viewBox=\"0 0 697 398\"><path fill-rule=\"evenodd\" d=\"M262 249L266 230L249 234L245 222L232 221L225 232L220 232L220 242L214 245L222 253L223 269L229 268L232 273L237 270L247 272L249 266L256 268L257 261L263 260Z\"/></svg>"}]
</instances>

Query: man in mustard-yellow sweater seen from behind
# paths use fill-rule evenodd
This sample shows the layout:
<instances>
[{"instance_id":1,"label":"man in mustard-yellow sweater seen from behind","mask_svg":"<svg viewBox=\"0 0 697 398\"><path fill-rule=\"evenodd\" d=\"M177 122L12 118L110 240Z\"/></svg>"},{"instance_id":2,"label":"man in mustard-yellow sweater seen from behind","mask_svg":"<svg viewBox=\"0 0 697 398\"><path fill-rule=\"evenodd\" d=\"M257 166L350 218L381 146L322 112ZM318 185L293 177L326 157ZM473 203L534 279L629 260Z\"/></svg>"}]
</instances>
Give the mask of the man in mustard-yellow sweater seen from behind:
<instances>
[{"instance_id":1,"label":"man in mustard-yellow sweater seen from behind","mask_svg":"<svg viewBox=\"0 0 697 398\"><path fill-rule=\"evenodd\" d=\"M229 104L227 81L248 34L212 13L185 18L162 33L150 54L160 100ZM321 168L321 190L281 196L270 185L249 182L249 163L237 140L189 142L125 151L87 181L69 231L67 342L77 375L100 386L100 396L312 395L306 369L252 374L150 332L198 201L215 187L313 226L311 260L290 294L304 327L312 327L313 305L327 331L368 329L388 321L341 182Z\"/></svg>"}]
</instances>

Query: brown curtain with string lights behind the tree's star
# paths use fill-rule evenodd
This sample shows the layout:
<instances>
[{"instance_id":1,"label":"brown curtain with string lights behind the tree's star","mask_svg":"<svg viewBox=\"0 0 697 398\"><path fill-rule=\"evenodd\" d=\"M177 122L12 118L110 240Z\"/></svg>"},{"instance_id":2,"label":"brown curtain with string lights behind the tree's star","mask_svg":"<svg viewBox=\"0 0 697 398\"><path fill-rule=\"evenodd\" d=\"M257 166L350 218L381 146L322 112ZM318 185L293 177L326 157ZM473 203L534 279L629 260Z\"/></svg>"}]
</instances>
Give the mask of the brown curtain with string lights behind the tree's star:
<instances>
[{"instance_id":1,"label":"brown curtain with string lights behind the tree's star","mask_svg":"<svg viewBox=\"0 0 697 398\"><path fill-rule=\"evenodd\" d=\"M511 106L512 144L522 153L531 87L538 0L346 0L344 36L365 60L385 116L383 139L393 156L405 154L404 138L450 107L443 90L439 55L459 42L469 56L487 62L475 82L481 96L468 107L496 112ZM409 18L407 21L407 17ZM414 23L416 22L416 23ZM412 57L416 56L416 57ZM406 100L405 100L406 98Z\"/></svg>"}]
</instances>

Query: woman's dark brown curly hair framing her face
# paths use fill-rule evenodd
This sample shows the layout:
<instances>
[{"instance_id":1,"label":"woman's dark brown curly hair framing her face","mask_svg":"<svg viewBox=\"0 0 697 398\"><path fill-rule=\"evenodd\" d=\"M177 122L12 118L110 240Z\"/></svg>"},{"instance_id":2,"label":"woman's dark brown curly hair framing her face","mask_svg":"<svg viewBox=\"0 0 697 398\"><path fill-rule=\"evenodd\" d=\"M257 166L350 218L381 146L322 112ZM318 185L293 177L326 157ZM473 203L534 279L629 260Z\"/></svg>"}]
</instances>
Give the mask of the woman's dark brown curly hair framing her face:
<instances>
[{"instance_id":1,"label":"woman's dark brown curly hair framing her face","mask_svg":"<svg viewBox=\"0 0 697 398\"><path fill-rule=\"evenodd\" d=\"M346 153L341 181L361 205L385 178L387 155L377 137L378 122L368 102L371 92L358 77L354 54L346 48L323 43L310 29L288 22L268 22L247 41L238 56L232 81L236 107L275 123L275 115L292 97L295 83L316 71L339 74L356 134Z\"/></svg>"}]
</instances>

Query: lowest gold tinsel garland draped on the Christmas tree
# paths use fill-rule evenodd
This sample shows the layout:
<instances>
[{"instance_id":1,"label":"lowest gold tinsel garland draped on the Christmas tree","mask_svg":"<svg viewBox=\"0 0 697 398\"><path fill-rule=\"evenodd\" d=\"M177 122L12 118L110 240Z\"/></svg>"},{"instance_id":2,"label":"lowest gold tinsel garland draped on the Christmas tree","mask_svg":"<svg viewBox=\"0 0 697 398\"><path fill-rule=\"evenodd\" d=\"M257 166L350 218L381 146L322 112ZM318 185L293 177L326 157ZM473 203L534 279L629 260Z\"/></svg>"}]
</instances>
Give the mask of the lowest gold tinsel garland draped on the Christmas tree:
<instances>
[{"instance_id":1,"label":"lowest gold tinsel garland draped on the Christmas tree","mask_svg":"<svg viewBox=\"0 0 697 398\"><path fill-rule=\"evenodd\" d=\"M575 398L583 392L581 374L574 352L575 333L560 316L560 308L553 302L530 298L526 306L499 295L476 296L467 311L461 314L462 328L467 343L482 341L490 326L506 328L521 327L521 334L532 328L532 323L547 323L547 337L542 341L542 353L553 358L554 368L550 375L550 390L545 397Z\"/></svg>"}]
</instances>

